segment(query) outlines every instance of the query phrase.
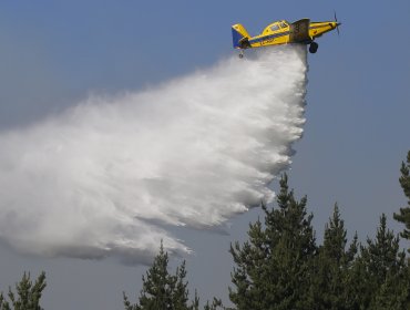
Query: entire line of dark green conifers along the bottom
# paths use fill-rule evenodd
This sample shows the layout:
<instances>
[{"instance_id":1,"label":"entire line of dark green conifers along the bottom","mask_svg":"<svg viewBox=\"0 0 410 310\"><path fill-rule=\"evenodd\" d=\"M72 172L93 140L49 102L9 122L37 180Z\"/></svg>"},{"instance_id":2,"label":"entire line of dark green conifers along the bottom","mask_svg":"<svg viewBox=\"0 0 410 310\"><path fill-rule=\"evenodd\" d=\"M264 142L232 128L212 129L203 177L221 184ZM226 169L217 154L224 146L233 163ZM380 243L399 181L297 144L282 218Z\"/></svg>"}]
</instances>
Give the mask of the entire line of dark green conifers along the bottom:
<instances>
[{"instance_id":1,"label":"entire line of dark green conifers along the bottom","mask_svg":"<svg viewBox=\"0 0 410 310\"><path fill-rule=\"evenodd\" d=\"M277 206L262 204L264 220L249 224L248 239L230 245L234 261L229 300L224 307L214 298L199 307L195 291L189 294L183 261L170 271L163 246L143 276L143 288L131 301L123 293L125 310L285 310L410 309L410 258L400 249L400 238L410 239L410 151L401 164L400 186L407 206L393 214L403 224L396 235L382 214L376 237L361 244L357 234L348 240L337 204L318 245L307 211L307 197L297 199L286 174L280 179ZM410 248L407 250L410 252ZM42 272L33 282L24 273L16 292L0 294L0 310L40 310L45 288Z\"/></svg>"}]
</instances>

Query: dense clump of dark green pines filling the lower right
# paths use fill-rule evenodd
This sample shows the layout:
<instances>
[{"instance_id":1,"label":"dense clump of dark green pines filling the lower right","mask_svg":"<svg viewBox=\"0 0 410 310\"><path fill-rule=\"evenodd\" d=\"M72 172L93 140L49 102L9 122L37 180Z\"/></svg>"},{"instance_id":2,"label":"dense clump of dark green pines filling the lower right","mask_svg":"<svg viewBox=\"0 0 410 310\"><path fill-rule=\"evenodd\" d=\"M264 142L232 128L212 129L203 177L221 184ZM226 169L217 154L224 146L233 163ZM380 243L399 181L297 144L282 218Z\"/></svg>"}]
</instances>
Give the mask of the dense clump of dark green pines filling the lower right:
<instances>
[{"instance_id":1,"label":"dense clump of dark green pines filling the lower right","mask_svg":"<svg viewBox=\"0 0 410 310\"><path fill-rule=\"evenodd\" d=\"M265 223L249 224L248 240L230 245L234 309L410 309L409 259L385 215L375 240L359 245L356 234L348 244L335 205L318 247L306 197L295 199L286 175L277 204L273 210L263 205Z\"/></svg>"}]
</instances>

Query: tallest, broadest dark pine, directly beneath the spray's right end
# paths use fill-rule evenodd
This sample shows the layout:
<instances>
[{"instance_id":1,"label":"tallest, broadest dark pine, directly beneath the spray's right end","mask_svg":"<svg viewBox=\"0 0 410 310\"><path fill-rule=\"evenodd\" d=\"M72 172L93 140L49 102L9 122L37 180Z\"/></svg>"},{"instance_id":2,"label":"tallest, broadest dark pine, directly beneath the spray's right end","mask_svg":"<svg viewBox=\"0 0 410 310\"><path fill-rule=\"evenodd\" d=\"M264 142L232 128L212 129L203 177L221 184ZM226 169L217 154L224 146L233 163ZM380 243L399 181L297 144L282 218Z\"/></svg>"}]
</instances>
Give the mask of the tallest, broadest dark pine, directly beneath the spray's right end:
<instances>
[{"instance_id":1,"label":"tallest, broadest dark pine, directly beneath the spray's right end","mask_svg":"<svg viewBox=\"0 0 410 310\"><path fill-rule=\"evenodd\" d=\"M316 254L312 215L304 197L297 202L285 174L277 209L264 204L265 225L249 224L249 240L230 246L236 267L229 298L238 310L311 309L310 259Z\"/></svg>"}]
</instances>

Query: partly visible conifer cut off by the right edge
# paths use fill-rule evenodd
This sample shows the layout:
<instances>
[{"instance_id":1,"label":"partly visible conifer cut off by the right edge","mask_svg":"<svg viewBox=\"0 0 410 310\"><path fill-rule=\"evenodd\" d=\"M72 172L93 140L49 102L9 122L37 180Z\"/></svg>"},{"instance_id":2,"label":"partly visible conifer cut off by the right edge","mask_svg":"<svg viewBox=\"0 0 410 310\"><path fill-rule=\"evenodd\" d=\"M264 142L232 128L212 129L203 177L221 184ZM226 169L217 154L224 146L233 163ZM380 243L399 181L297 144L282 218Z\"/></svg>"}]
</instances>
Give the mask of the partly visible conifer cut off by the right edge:
<instances>
[{"instance_id":1,"label":"partly visible conifer cut off by the right edge","mask_svg":"<svg viewBox=\"0 0 410 310\"><path fill-rule=\"evenodd\" d=\"M401 176L399 178L401 188L404 192L406 197L408 200L408 206L404 208L400 208L399 214L393 214L393 218L402 224L404 224L406 228L400 234L402 238L410 239L410 151L407 154L407 164L404 162L401 163ZM410 248L408 249L410 252Z\"/></svg>"}]
</instances>

